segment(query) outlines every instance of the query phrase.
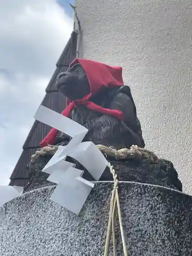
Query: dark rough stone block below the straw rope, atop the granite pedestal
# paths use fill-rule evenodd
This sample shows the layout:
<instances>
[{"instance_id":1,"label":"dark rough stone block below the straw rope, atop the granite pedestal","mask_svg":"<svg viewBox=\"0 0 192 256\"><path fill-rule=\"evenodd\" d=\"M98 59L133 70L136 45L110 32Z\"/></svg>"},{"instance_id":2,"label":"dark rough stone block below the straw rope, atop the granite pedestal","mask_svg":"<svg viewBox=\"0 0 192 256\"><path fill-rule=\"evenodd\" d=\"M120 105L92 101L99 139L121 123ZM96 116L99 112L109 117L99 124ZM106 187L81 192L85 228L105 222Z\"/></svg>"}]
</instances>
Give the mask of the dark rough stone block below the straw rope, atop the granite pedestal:
<instances>
[{"instance_id":1,"label":"dark rough stone block below the straw rope, atop the granite pedestal","mask_svg":"<svg viewBox=\"0 0 192 256\"><path fill-rule=\"evenodd\" d=\"M25 191L54 184L47 181L49 174L41 172L42 168L44 168L50 159L51 156L43 156L29 164L30 182ZM83 178L93 181L91 175L81 164L69 157L66 160L76 163L77 168L84 170ZM149 160L114 161L109 159L109 161L114 166L119 180L161 185L182 191L182 184L178 179L178 174L172 162L170 161L159 159L157 164L151 163ZM110 173L109 168L106 168L100 178L100 181L112 180L112 174Z\"/></svg>"}]
</instances>

